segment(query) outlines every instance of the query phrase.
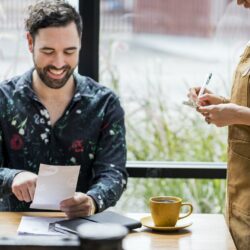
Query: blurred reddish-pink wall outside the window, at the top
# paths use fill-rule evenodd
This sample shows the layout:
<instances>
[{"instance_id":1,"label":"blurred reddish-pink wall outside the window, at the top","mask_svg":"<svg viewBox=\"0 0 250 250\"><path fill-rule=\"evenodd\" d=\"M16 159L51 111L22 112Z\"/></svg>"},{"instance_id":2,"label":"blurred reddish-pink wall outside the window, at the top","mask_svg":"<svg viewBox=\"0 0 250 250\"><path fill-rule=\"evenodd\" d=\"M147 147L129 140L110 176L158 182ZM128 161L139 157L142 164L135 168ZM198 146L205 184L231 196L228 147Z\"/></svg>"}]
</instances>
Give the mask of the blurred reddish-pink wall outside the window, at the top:
<instances>
[{"instance_id":1,"label":"blurred reddish-pink wall outside the window, at the top","mask_svg":"<svg viewBox=\"0 0 250 250\"><path fill-rule=\"evenodd\" d=\"M216 1L135 0L134 32L211 36L215 23L211 11ZM226 7L228 0L224 2Z\"/></svg>"}]
</instances>

